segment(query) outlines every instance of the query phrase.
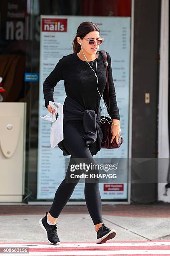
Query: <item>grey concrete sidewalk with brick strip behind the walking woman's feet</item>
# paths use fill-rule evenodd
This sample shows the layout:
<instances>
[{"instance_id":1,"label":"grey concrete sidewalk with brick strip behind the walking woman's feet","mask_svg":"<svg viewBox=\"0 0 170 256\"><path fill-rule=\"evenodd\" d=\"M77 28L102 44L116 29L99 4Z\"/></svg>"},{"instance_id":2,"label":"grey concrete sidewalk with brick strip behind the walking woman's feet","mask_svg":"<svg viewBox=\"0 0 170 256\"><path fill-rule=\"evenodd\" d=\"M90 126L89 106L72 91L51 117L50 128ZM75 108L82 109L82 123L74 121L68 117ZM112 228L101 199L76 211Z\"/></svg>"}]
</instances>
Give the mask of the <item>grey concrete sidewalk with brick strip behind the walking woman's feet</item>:
<instances>
[{"instance_id":1,"label":"grey concrete sidewalk with brick strip behind the walking woman's feet","mask_svg":"<svg viewBox=\"0 0 170 256\"><path fill-rule=\"evenodd\" d=\"M39 219L50 205L0 205L0 243L46 242ZM112 241L170 240L170 204L102 205L103 222L117 235ZM86 205L66 205L57 220L61 242L95 242Z\"/></svg>"}]
</instances>

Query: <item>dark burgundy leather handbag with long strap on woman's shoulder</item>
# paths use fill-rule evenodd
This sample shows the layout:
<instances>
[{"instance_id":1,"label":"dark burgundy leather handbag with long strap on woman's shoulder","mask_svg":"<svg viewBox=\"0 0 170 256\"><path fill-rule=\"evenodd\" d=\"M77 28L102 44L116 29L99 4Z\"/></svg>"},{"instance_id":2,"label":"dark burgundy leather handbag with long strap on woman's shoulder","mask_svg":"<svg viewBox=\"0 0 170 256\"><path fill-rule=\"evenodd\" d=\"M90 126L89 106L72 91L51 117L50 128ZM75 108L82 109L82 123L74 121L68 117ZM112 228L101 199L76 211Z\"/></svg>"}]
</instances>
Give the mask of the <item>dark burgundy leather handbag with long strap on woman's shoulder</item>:
<instances>
[{"instance_id":1,"label":"dark burgundy leather handbag with long strap on woman's shoulder","mask_svg":"<svg viewBox=\"0 0 170 256\"><path fill-rule=\"evenodd\" d=\"M109 97L109 81L108 81L108 73L107 73L107 55L105 50L100 50L102 57L103 57L103 62L105 64L105 69L106 69L106 76L107 76L107 102L104 100L105 105L107 107L107 113L110 115L110 97ZM111 116L111 115L110 115ZM122 136L119 136L118 144L116 142L116 137L113 139L111 143L111 138L112 138L112 133L111 133L111 123L112 119L107 116L101 116L101 118L107 119L109 122L105 121L105 123L100 123L100 128L102 130L103 138L102 138L102 145L101 148L107 148L107 149L112 149L112 148L119 148L122 142L124 141Z\"/></svg>"}]
</instances>

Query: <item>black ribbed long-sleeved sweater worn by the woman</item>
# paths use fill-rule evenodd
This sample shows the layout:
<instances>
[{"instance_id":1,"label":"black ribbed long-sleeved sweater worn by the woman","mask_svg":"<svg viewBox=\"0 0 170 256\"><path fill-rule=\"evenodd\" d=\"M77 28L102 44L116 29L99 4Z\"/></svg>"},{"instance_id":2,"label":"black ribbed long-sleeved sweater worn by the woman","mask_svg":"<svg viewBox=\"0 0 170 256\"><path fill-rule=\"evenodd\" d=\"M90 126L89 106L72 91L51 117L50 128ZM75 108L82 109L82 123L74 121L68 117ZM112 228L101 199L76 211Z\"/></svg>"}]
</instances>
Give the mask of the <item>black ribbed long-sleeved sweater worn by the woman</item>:
<instances>
[{"instance_id":1,"label":"black ribbed long-sleeved sweater worn by the woman","mask_svg":"<svg viewBox=\"0 0 170 256\"><path fill-rule=\"evenodd\" d=\"M108 79L109 79L109 93L110 93L110 113L111 118L115 118L120 120L119 109L117 107L116 102L116 94L115 94L115 86L112 78L112 68L111 68L111 58L109 53L107 53L107 61L108 61ZM90 66L92 65L92 61L89 61ZM54 102L53 93L54 87L60 80L64 80L65 92L66 95L71 97L73 100L77 101L82 105L85 109L95 110L97 113L97 108L100 104L101 97L103 95L103 91L106 86L106 70L105 65L103 63L102 54L99 51L98 59L97 59L97 78L95 77L95 73L90 69L87 61L82 61L76 53L69 54L67 56L63 56L60 59L53 69L53 71L49 74L49 76L45 79L43 84L43 92L45 99L45 107L49 104L49 100ZM93 62L92 68L95 71L96 67L96 59ZM96 87L97 83L97 87ZM98 90L100 92L98 92ZM105 97L103 95L103 99ZM101 107L102 103L100 104ZM107 108L105 107L105 110Z\"/></svg>"}]
</instances>

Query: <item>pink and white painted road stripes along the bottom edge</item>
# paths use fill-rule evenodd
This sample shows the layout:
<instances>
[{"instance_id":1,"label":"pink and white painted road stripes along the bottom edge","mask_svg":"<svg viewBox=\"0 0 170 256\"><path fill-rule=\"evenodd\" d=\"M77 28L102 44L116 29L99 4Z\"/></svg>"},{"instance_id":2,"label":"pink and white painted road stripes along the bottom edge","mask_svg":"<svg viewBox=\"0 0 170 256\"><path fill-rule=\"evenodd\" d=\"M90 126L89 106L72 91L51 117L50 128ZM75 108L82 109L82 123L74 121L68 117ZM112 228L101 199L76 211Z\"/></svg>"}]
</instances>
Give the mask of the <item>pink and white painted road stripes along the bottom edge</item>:
<instances>
[{"instance_id":1,"label":"pink and white painted road stripes along the bottom edge","mask_svg":"<svg viewBox=\"0 0 170 256\"><path fill-rule=\"evenodd\" d=\"M2 248L28 248L28 253L2 252ZM103 244L95 242L61 242L52 245L47 242L30 243L0 243L0 255L8 256L141 256L141 255L170 255L169 241L114 241Z\"/></svg>"}]
</instances>

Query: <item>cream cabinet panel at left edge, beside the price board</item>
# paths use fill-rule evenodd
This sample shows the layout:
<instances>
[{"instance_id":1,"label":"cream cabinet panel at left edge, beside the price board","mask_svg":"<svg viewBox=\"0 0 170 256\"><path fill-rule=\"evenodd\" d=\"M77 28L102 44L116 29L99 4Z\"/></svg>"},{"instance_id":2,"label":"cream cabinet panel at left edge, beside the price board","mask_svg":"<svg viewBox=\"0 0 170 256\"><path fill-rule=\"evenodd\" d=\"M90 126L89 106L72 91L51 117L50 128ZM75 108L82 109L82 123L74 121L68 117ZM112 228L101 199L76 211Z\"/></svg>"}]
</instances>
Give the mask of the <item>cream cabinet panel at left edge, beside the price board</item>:
<instances>
[{"instance_id":1,"label":"cream cabinet panel at left edge, beside the price board","mask_svg":"<svg viewBox=\"0 0 170 256\"><path fill-rule=\"evenodd\" d=\"M0 202L22 202L26 103L0 102Z\"/></svg>"}]
</instances>

